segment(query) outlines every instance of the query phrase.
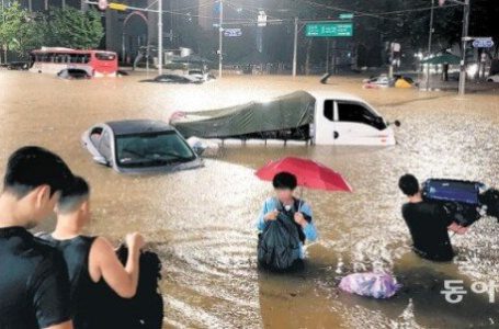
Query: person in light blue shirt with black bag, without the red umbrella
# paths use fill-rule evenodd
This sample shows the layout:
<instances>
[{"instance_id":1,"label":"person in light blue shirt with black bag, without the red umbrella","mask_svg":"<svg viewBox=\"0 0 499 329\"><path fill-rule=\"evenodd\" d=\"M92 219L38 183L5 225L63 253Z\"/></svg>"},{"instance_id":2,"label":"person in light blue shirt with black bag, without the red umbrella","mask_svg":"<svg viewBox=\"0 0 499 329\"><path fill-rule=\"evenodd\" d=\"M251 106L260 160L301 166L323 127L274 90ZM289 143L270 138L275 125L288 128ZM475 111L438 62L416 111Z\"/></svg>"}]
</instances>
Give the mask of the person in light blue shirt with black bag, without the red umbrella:
<instances>
[{"instance_id":1,"label":"person in light blue shirt with black bag, without the red umbrella","mask_svg":"<svg viewBox=\"0 0 499 329\"><path fill-rule=\"evenodd\" d=\"M286 271L303 266L303 246L317 239L310 206L294 196L296 177L290 172L275 174L275 196L269 197L257 222L259 265Z\"/></svg>"}]
</instances>

